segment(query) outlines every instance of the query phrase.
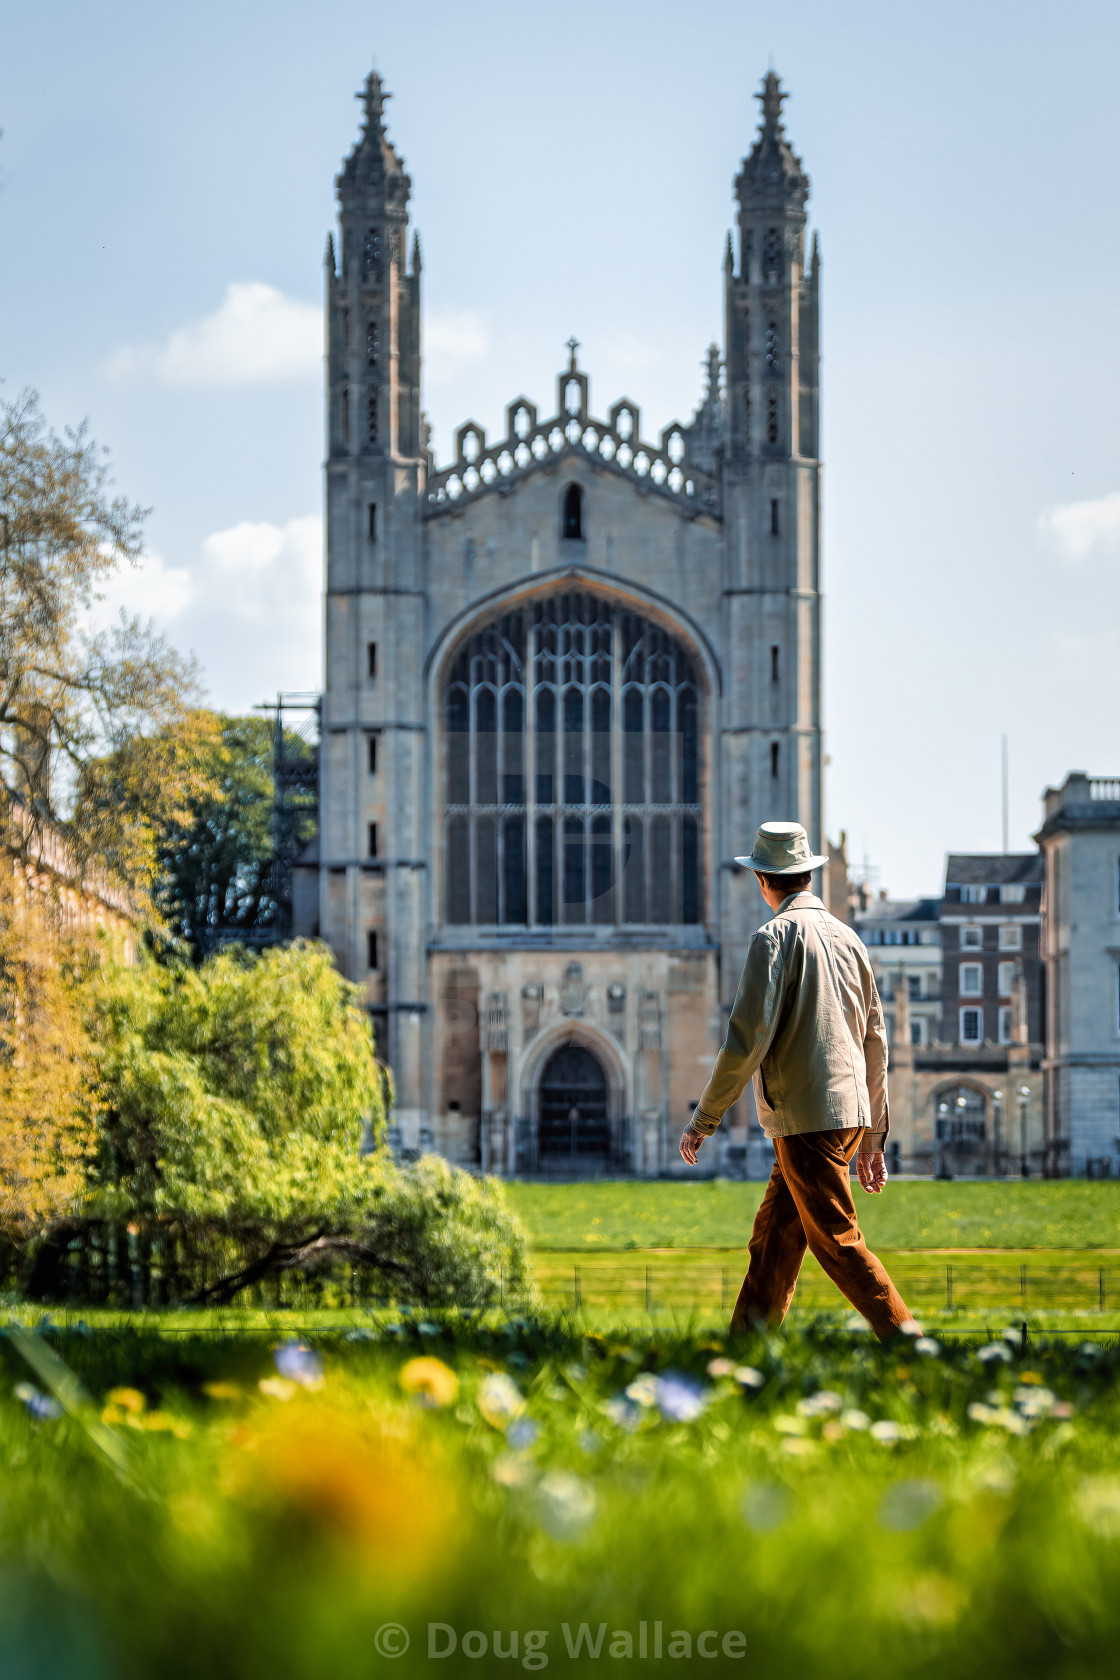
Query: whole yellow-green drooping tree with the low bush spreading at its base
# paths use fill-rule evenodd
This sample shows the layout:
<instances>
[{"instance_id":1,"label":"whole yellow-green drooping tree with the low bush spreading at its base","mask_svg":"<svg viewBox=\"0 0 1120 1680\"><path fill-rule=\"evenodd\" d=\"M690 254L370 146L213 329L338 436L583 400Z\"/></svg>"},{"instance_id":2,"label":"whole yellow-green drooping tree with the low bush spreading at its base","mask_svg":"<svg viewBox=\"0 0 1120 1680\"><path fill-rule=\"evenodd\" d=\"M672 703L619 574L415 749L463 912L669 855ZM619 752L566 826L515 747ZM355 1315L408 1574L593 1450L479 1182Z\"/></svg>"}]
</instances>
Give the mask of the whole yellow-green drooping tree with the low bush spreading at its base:
<instances>
[{"instance_id":1,"label":"whole yellow-green drooping tree with the low bush spreading at its base","mask_svg":"<svg viewBox=\"0 0 1120 1680\"><path fill-rule=\"evenodd\" d=\"M178 1299L339 1260L430 1305L529 1292L499 1186L435 1159L400 1171L381 1147L386 1077L324 946L144 961L89 993L97 1144L84 1205L37 1245L34 1295L74 1287L76 1245L89 1273L94 1247L119 1257L129 1240L141 1273L158 1252Z\"/></svg>"}]
</instances>

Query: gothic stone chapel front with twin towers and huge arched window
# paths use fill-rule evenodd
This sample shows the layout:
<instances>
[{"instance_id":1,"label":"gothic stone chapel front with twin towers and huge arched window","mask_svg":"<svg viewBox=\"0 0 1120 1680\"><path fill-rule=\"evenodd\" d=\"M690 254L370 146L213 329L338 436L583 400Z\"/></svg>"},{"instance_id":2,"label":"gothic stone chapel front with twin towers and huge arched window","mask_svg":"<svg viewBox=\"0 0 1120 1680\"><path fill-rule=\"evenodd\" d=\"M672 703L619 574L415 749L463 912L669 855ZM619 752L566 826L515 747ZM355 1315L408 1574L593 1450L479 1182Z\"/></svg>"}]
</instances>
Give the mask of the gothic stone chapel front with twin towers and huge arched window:
<instances>
[{"instance_id":1,"label":"gothic stone chapel front with twin towers and huge arched window","mask_svg":"<svg viewBox=\"0 0 1120 1680\"><path fill-rule=\"evenodd\" d=\"M327 245L317 931L359 981L406 1149L658 1174L764 916L756 825L821 847L816 245L767 76L725 344L692 422L420 408L420 247L378 76ZM746 1159L749 1100L707 1156ZM730 1151L730 1152L729 1152Z\"/></svg>"}]
</instances>

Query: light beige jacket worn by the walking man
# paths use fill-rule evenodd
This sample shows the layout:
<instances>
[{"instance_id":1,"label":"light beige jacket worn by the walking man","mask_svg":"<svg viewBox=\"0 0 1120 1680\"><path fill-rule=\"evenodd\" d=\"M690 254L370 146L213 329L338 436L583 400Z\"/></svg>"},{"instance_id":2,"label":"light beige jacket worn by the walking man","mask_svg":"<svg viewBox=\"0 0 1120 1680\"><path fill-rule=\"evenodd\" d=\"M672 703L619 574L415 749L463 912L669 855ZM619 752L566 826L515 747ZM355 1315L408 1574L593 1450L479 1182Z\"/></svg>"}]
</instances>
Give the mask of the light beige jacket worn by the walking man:
<instances>
[{"instance_id":1,"label":"light beige jacket worn by the walking man","mask_svg":"<svg viewBox=\"0 0 1120 1680\"><path fill-rule=\"evenodd\" d=\"M705 1137L754 1079L767 1137L865 1126L883 1147L887 1030L863 941L811 892L786 899L747 949L724 1048L692 1116Z\"/></svg>"}]
</instances>

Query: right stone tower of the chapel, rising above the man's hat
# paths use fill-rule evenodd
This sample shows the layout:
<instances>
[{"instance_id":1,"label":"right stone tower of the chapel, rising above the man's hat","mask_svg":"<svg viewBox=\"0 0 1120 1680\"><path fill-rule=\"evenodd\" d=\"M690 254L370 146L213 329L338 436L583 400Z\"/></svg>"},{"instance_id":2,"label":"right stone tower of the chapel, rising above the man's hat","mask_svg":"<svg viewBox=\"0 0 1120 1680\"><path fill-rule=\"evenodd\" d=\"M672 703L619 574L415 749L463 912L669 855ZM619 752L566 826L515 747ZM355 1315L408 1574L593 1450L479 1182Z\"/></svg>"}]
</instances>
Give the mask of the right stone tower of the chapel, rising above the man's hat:
<instances>
[{"instance_id":1,"label":"right stone tower of the chapel, rising above the man's hat","mask_svg":"<svg viewBox=\"0 0 1120 1680\"><path fill-rule=\"evenodd\" d=\"M749 790L746 801L727 801L737 827L725 855L771 815L803 822L818 852L824 840L819 250L814 237L806 267L809 178L782 129L786 94L772 71L756 99L762 126L735 178L739 250L729 239L724 260L724 763L727 785ZM724 951L737 974L759 924L751 877L734 880L727 911Z\"/></svg>"}]
</instances>

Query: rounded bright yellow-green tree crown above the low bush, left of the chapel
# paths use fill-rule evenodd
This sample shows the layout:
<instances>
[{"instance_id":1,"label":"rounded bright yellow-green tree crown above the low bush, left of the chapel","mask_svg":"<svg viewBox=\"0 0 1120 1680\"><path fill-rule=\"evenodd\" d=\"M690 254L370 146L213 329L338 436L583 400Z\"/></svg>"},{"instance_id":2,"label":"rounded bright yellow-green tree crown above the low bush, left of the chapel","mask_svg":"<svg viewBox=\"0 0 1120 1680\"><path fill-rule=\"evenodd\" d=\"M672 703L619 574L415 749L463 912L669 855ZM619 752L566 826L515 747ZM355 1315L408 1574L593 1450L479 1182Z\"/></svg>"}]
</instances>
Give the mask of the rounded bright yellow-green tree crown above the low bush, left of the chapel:
<instances>
[{"instance_id":1,"label":"rounded bright yellow-green tree crown above the low bush, left of the chapel","mask_svg":"<svg viewBox=\"0 0 1120 1680\"><path fill-rule=\"evenodd\" d=\"M385 1085L326 948L118 969L92 1025L106 1206L272 1242L361 1200Z\"/></svg>"}]
</instances>

